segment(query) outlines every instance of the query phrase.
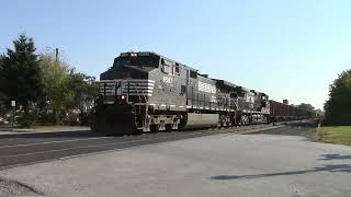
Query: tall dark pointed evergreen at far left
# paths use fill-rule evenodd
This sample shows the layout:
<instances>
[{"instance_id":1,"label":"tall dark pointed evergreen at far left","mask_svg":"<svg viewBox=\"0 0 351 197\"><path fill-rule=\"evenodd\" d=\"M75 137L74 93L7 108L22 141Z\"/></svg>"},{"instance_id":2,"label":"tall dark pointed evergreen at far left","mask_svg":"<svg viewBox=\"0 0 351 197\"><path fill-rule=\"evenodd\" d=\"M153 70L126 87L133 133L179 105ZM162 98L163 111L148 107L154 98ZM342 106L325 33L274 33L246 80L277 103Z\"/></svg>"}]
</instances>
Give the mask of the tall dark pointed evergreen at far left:
<instances>
[{"instance_id":1,"label":"tall dark pointed evergreen at far left","mask_svg":"<svg viewBox=\"0 0 351 197\"><path fill-rule=\"evenodd\" d=\"M26 115L30 103L37 102L43 95L41 68L32 38L21 34L13 46L14 49L7 49L1 60L0 92L22 105Z\"/></svg>"}]
</instances>

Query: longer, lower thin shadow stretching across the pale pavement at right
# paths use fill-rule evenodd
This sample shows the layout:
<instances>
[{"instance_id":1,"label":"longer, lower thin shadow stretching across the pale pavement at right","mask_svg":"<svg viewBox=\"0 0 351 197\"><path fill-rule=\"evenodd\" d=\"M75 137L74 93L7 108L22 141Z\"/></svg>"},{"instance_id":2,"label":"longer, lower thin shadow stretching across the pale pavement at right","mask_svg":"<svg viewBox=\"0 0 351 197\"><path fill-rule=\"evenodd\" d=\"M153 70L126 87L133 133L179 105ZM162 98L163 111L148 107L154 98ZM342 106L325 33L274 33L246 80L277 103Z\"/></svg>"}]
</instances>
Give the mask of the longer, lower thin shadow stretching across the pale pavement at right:
<instances>
[{"instance_id":1,"label":"longer, lower thin shadow stretching across the pale pavement at right","mask_svg":"<svg viewBox=\"0 0 351 197\"><path fill-rule=\"evenodd\" d=\"M350 164L324 165L321 167L314 167L314 169L304 170L304 171L287 171L287 172L280 172L280 173L252 174L252 175L217 175L217 176L212 176L211 179L248 179L248 178L308 174L308 173L316 173L316 172L351 173L351 165Z\"/></svg>"}]
</instances>

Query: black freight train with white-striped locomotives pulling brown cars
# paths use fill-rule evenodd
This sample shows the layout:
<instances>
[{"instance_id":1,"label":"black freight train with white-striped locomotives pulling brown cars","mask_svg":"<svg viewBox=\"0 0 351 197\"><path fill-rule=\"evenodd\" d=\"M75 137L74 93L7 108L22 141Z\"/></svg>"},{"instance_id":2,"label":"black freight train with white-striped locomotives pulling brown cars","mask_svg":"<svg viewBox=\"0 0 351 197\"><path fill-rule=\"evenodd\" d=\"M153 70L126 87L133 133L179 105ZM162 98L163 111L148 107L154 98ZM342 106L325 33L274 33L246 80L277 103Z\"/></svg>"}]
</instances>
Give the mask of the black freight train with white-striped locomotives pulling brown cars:
<instances>
[{"instance_id":1,"label":"black freight train with white-striped locomotives pulling brown cars","mask_svg":"<svg viewBox=\"0 0 351 197\"><path fill-rule=\"evenodd\" d=\"M303 119L307 112L156 53L122 53L100 76L92 129L124 135Z\"/></svg>"}]
</instances>

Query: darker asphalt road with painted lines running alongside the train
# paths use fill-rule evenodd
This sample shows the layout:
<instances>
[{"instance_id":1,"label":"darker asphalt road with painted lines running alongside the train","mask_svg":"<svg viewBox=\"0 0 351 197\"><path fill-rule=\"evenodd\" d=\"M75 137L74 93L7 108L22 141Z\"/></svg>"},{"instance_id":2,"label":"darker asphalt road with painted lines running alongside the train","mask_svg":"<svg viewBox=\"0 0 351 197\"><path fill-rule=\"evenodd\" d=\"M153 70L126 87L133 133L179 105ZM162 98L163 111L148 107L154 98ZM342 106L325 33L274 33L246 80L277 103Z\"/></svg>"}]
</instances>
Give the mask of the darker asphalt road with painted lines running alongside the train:
<instances>
[{"instance_id":1,"label":"darker asphalt road with painted lines running alongside the train","mask_svg":"<svg viewBox=\"0 0 351 197\"><path fill-rule=\"evenodd\" d=\"M267 126L226 130L193 130L105 137L90 130L44 134L0 135L0 170L53 159L125 149L165 141L194 138L226 131L242 131Z\"/></svg>"}]
</instances>

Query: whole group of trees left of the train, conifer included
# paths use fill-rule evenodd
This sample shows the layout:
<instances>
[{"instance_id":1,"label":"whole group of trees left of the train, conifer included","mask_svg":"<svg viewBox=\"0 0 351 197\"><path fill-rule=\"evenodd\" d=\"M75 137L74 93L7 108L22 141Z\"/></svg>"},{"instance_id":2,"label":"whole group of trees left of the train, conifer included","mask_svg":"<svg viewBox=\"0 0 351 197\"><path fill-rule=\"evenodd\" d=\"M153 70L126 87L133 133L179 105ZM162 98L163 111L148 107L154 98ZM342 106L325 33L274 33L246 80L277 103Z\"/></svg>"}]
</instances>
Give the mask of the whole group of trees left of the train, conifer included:
<instances>
[{"instance_id":1,"label":"whole group of trees left of the train, conifer included","mask_svg":"<svg viewBox=\"0 0 351 197\"><path fill-rule=\"evenodd\" d=\"M0 55L0 117L15 112L21 126L87 124L98 84L69 63L20 35ZM11 107L15 101L15 107Z\"/></svg>"}]
</instances>

